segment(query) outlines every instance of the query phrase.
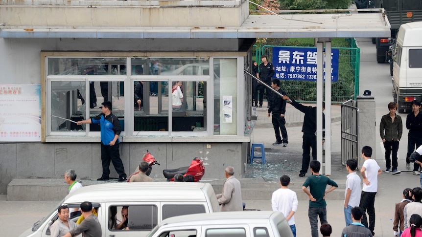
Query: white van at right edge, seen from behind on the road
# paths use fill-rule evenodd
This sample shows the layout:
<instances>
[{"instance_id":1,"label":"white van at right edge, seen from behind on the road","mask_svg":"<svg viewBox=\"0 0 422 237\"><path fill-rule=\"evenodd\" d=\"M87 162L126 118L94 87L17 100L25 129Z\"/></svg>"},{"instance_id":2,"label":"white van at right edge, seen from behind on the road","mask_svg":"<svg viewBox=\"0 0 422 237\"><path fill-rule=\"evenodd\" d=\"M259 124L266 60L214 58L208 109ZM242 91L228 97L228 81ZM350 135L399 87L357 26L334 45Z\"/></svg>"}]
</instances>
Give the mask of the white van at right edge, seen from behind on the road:
<instances>
[{"instance_id":1,"label":"white van at right edge, seen from behind on the road","mask_svg":"<svg viewBox=\"0 0 422 237\"><path fill-rule=\"evenodd\" d=\"M402 24L393 55L394 100L399 113L412 111L422 96L422 22Z\"/></svg>"}]
</instances>

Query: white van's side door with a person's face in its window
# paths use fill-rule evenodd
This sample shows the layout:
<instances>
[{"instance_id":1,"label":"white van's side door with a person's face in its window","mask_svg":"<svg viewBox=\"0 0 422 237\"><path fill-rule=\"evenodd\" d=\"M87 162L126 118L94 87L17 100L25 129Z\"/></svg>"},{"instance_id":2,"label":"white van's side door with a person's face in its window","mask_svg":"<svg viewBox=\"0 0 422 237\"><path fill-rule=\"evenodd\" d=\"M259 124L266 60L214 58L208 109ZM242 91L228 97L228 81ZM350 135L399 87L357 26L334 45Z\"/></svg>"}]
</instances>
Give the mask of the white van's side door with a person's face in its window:
<instances>
[{"instance_id":1,"label":"white van's side door with a person's face in its window","mask_svg":"<svg viewBox=\"0 0 422 237\"><path fill-rule=\"evenodd\" d=\"M159 223L159 202L110 202L101 225L104 237L143 237Z\"/></svg>"}]
</instances>

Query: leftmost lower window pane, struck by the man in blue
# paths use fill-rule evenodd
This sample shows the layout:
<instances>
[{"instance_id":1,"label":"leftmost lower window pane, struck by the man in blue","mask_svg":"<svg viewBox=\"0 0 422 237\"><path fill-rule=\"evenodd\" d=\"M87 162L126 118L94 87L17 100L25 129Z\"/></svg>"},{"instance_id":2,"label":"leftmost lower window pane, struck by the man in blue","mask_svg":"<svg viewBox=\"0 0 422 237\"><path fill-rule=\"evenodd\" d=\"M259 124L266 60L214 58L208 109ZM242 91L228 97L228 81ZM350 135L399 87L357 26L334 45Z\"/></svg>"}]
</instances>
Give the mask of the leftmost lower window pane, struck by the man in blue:
<instances>
[{"instance_id":1,"label":"leftmost lower window pane, struck by the man in blue","mask_svg":"<svg viewBox=\"0 0 422 237\"><path fill-rule=\"evenodd\" d=\"M83 120L86 101L85 82L51 82L51 131L81 130L69 120Z\"/></svg>"}]
</instances>

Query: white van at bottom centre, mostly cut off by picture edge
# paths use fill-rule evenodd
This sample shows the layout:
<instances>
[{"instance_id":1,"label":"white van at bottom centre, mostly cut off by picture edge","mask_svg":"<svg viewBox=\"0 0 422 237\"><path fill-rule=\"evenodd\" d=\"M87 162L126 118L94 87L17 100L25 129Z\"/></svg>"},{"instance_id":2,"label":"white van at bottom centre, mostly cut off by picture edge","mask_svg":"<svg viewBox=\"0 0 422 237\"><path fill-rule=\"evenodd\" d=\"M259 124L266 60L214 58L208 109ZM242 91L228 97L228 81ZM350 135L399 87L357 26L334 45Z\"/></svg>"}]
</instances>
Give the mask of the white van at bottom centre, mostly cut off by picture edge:
<instances>
[{"instance_id":1,"label":"white van at bottom centre, mostly cut off by picture edge","mask_svg":"<svg viewBox=\"0 0 422 237\"><path fill-rule=\"evenodd\" d=\"M221 212L172 217L148 237L293 237L281 212Z\"/></svg>"}]
</instances>

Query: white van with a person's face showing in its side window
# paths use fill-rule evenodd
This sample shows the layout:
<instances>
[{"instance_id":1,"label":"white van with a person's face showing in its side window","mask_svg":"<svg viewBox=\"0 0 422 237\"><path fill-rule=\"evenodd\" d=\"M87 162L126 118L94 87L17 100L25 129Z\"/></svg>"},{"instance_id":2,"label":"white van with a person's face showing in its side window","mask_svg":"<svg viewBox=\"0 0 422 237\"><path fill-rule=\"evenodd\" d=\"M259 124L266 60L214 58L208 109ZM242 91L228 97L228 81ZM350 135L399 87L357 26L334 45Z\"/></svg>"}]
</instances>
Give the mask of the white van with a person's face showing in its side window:
<instances>
[{"instance_id":1,"label":"white van with a person's face showing in its side window","mask_svg":"<svg viewBox=\"0 0 422 237\"><path fill-rule=\"evenodd\" d=\"M67 195L50 214L36 222L21 237L49 237L49 227L58 218L57 209L62 205L76 208L84 201L92 202L93 208L97 209L103 237L142 237L168 217L220 211L209 183L133 182L90 185ZM129 230L116 230L123 206L128 206ZM76 221L79 215L71 219Z\"/></svg>"}]
</instances>

